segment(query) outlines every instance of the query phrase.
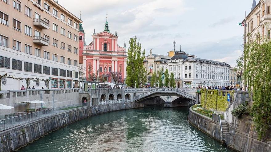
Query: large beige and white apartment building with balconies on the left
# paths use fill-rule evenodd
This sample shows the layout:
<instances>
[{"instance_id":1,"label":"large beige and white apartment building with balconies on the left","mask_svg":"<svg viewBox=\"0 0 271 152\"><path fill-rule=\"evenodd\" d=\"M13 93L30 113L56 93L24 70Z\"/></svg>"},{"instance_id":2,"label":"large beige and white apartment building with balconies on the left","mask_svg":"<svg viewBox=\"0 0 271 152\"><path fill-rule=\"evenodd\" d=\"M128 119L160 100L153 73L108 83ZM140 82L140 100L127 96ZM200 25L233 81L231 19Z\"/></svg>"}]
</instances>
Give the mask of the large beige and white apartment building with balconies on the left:
<instances>
[{"instance_id":1,"label":"large beige and white apartment building with balconies on the left","mask_svg":"<svg viewBox=\"0 0 271 152\"><path fill-rule=\"evenodd\" d=\"M0 0L0 75L51 80L49 88L78 86L79 23L54 0ZM26 80L2 78L2 90ZM32 88L47 88L30 81Z\"/></svg>"}]
</instances>

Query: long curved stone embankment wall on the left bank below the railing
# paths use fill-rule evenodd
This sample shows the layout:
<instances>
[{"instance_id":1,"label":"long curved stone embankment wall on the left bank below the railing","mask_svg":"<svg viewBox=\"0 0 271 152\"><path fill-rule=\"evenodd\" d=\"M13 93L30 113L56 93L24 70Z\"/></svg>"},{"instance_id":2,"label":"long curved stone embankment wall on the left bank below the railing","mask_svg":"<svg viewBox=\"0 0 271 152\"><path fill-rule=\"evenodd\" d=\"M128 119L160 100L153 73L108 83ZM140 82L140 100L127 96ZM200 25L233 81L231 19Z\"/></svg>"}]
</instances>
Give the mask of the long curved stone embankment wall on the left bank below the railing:
<instances>
[{"instance_id":1,"label":"long curved stone embankment wall on the left bank below the railing","mask_svg":"<svg viewBox=\"0 0 271 152\"><path fill-rule=\"evenodd\" d=\"M51 131L66 126L69 123L84 119L93 115L98 115L111 111L125 110L144 107L142 103L115 103L108 105L99 105L94 107L83 107L64 112L50 117L35 120L30 123L3 131L0 133L1 152L14 151L29 142L40 138Z\"/></svg>"}]
</instances>

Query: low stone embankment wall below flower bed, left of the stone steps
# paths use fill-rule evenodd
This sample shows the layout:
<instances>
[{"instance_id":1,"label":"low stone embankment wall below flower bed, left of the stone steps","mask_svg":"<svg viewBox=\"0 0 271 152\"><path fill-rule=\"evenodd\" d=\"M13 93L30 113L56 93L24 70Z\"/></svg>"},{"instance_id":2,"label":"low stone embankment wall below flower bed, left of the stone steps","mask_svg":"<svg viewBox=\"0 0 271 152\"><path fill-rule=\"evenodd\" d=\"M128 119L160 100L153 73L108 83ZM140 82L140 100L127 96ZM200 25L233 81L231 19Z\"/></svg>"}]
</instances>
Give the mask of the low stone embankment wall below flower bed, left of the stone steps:
<instances>
[{"instance_id":1,"label":"low stone embankment wall below flower bed, left of the stone steps","mask_svg":"<svg viewBox=\"0 0 271 152\"><path fill-rule=\"evenodd\" d=\"M205 134L222 142L220 124L218 122L193 111L192 107L189 108L188 121Z\"/></svg>"}]
</instances>

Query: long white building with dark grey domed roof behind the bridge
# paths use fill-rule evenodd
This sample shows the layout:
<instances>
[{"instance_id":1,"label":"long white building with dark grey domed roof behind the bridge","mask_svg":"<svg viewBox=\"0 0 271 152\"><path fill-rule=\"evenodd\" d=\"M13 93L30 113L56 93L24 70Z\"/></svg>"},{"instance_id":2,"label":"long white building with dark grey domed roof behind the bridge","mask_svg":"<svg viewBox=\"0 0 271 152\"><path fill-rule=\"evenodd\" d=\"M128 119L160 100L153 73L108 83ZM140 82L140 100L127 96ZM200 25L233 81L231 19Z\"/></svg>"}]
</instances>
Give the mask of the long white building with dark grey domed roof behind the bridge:
<instances>
[{"instance_id":1,"label":"long white building with dark grey domed roof behind the bridge","mask_svg":"<svg viewBox=\"0 0 271 152\"><path fill-rule=\"evenodd\" d=\"M198 86L230 85L230 65L225 62L188 57L185 52L178 52L170 60L161 63L163 71L167 68L173 73L176 87L192 88ZM221 74L223 78L221 79Z\"/></svg>"}]
</instances>

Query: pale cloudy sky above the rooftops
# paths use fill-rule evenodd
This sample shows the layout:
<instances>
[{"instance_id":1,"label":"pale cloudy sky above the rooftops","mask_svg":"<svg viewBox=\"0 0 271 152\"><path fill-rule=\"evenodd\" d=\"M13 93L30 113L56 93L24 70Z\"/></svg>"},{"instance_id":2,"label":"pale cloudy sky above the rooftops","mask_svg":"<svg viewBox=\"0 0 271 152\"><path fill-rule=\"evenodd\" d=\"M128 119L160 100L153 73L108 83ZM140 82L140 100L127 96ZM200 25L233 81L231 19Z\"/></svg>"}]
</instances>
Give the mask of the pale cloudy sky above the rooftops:
<instances>
[{"instance_id":1,"label":"pale cloudy sky above the rooftops","mask_svg":"<svg viewBox=\"0 0 271 152\"><path fill-rule=\"evenodd\" d=\"M86 43L92 33L103 31L108 14L111 33L117 30L118 43L127 48L137 36L146 54L167 55L176 49L199 58L224 61L231 66L242 54L241 23L253 0L58 0L83 20ZM259 0L256 0L257 2ZM79 3L80 2L80 3Z\"/></svg>"}]
</instances>

